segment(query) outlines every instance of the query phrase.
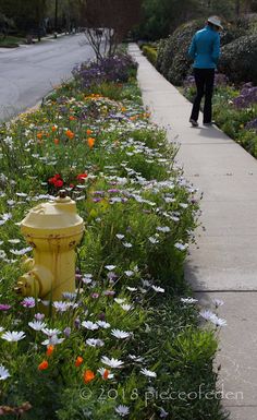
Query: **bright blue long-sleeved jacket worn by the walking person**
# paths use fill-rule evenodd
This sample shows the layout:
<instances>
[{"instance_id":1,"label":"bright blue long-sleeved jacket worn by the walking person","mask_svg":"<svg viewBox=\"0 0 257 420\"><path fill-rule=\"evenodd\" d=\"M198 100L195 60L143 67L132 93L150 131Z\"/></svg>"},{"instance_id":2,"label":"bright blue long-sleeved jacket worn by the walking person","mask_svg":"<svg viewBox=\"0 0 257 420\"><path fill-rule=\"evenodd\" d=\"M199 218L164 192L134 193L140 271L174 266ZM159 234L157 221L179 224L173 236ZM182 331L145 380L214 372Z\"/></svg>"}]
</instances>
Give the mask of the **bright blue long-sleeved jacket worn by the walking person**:
<instances>
[{"instance_id":1,"label":"bright blue long-sleeved jacket worn by the walking person","mask_svg":"<svg viewBox=\"0 0 257 420\"><path fill-rule=\"evenodd\" d=\"M196 32L188 56L194 60L193 67L196 69L216 69L220 57L220 34L208 25Z\"/></svg>"}]
</instances>

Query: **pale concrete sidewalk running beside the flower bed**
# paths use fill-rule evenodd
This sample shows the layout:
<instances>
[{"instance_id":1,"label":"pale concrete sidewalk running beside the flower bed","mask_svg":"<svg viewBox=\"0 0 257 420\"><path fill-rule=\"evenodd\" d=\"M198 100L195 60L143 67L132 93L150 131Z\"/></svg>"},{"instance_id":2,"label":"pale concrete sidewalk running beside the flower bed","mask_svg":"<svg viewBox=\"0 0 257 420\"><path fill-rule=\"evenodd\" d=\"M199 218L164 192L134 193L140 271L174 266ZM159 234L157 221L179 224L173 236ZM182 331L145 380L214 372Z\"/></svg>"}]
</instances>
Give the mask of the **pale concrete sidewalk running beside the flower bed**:
<instances>
[{"instance_id":1,"label":"pale concrete sidewalk running beside the flower bed","mask_svg":"<svg viewBox=\"0 0 257 420\"><path fill-rule=\"evenodd\" d=\"M189 104L140 53L138 81L152 120L180 143L178 161L204 192L197 247L191 248L186 279L205 304L224 300L219 314L220 385L231 420L257 419L257 160L219 129L191 128ZM201 122L201 121L200 121ZM229 392L233 393L228 394ZM211 419L216 420L216 419Z\"/></svg>"}]
</instances>

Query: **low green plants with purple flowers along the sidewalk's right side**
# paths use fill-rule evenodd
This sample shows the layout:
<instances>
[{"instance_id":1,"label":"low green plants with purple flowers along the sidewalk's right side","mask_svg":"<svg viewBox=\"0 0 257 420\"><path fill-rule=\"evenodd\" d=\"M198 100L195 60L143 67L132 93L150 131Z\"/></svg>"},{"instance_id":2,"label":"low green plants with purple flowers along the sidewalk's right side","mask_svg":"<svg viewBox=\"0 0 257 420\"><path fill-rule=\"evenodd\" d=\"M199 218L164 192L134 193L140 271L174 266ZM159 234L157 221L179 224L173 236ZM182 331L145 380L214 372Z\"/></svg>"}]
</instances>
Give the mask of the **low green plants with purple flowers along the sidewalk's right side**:
<instances>
[{"instance_id":1,"label":"low green plants with purple flowers along the sidewalk's right side","mask_svg":"<svg viewBox=\"0 0 257 420\"><path fill-rule=\"evenodd\" d=\"M194 77L185 80L183 92L189 100L193 100L196 93ZM213 119L222 131L257 157L256 86L245 83L241 87L235 87L228 83L225 75L217 74Z\"/></svg>"}]
</instances>

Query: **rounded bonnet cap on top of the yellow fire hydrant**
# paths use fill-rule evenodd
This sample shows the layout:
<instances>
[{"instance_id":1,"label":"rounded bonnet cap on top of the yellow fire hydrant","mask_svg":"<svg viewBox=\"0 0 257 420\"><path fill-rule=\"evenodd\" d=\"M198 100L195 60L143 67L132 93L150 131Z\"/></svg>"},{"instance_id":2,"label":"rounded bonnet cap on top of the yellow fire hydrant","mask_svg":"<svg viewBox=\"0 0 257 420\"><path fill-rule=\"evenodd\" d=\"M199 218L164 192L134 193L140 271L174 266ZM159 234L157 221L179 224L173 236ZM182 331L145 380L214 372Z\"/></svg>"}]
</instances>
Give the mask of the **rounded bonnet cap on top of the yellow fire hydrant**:
<instances>
[{"instance_id":1,"label":"rounded bonnet cap on top of the yellow fire hydrant","mask_svg":"<svg viewBox=\"0 0 257 420\"><path fill-rule=\"evenodd\" d=\"M23 233L32 230L36 233L70 235L84 230L84 221L76 213L76 203L70 197L56 199L32 208L21 223Z\"/></svg>"}]
</instances>

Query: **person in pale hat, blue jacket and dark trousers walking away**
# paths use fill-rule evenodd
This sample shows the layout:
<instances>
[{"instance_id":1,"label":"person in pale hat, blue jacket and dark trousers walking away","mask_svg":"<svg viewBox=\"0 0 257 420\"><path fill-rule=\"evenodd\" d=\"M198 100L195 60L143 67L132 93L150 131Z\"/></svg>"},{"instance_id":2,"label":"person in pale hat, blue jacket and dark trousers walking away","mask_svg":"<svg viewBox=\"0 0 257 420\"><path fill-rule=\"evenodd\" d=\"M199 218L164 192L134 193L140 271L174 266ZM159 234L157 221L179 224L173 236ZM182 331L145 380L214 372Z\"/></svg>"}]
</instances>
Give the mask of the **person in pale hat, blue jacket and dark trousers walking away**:
<instances>
[{"instance_id":1,"label":"person in pale hat, blue jacket and dark trousers walking away","mask_svg":"<svg viewBox=\"0 0 257 420\"><path fill-rule=\"evenodd\" d=\"M194 76L197 94L194 100L189 122L198 127L200 101L205 96L204 124L211 125L211 98L215 84L215 70L220 57L220 19L210 16L206 26L198 31L191 43L188 55L194 60Z\"/></svg>"}]
</instances>

